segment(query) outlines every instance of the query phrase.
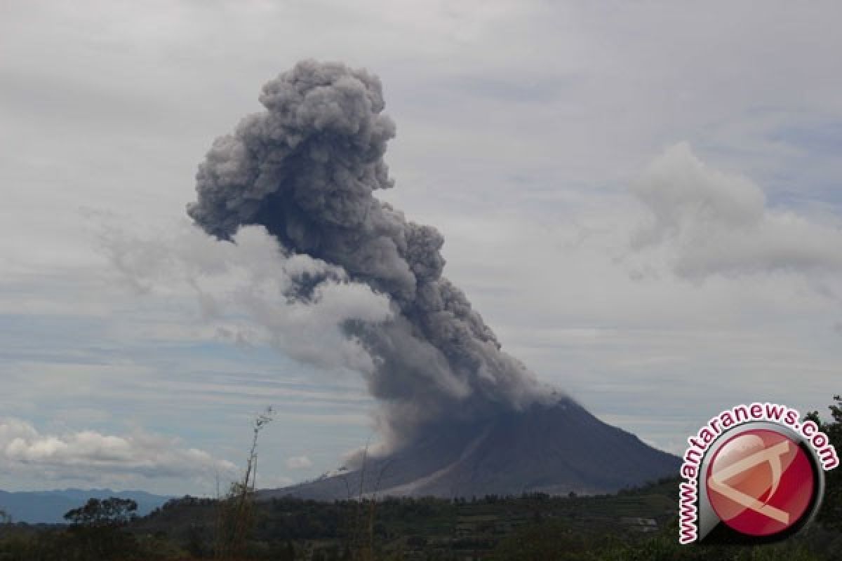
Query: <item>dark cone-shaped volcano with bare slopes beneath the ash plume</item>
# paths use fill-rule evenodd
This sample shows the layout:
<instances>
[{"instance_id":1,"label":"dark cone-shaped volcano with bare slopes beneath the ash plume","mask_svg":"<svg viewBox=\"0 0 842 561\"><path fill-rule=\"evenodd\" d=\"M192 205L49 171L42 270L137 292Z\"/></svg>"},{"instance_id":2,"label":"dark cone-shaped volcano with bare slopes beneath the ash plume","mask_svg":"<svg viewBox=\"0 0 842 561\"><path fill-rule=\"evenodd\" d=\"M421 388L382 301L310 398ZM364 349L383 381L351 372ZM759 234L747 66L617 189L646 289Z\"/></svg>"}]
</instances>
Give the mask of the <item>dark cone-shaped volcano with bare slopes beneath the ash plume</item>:
<instances>
[{"instance_id":1,"label":"dark cone-shaped volcano with bare slopes beneath the ash plume","mask_svg":"<svg viewBox=\"0 0 842 561\"><path fill-rule=\"evenodd\" d=\"M424 434L385 457L369 457L364 467L259 496L596 495L676 474L680 463L570 399Z\"/></svg>"}]
</instances>

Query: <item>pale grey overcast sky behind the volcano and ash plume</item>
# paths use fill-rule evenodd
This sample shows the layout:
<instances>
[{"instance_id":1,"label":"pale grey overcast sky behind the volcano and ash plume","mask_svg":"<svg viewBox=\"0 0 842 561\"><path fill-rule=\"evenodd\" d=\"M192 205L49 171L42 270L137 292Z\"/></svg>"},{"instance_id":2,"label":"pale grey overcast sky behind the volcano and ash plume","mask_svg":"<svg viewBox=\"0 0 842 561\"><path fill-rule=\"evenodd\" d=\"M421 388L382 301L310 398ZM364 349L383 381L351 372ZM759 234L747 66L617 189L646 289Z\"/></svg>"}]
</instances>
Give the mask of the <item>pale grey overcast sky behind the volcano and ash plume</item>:
<instances>
[{"instance_id":1,"label":"pale grey overcast sky behind the volcano and ash plume","mask_svg":"<svg viewBox=\"0 0 842 561\"><path fill-rule=\"evenodd\" d=\"M0 489L213 494L269 405L258 486L377 441L353 360L302 361L242 310L209 313L236 267L201 289L156 268L206 242L185 205L213 140L306 58L381 78L396 185L378 196L440 230L445 276L542 382L673 453L738 403L825 410L842 390L840 17L4 0ZM308 336L333 350L329 329Z\"/></svg>"}]
</instances>

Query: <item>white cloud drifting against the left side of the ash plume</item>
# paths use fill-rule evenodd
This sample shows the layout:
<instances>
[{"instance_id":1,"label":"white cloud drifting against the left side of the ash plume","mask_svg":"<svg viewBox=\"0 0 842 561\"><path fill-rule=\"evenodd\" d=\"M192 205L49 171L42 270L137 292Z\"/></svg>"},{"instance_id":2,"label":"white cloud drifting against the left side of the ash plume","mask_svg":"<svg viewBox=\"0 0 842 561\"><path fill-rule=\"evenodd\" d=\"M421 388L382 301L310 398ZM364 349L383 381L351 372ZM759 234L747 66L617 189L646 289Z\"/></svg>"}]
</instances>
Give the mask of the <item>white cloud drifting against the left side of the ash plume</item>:
<instances>
[{"instance_id":1,"label":"white cloud drifting against the left side of the ash plume","mask_svg":"<svg viewBox=\"0 0 842 561\"><path fill-rule=\"evenodd\" d=\"M341 267L286 255L262 226L243 227L232 241L186 223L154 238L106 227L101 244L120 278L136 291L195 294L217 336L240 345L269 344L320 368L369 372L371 357L341 325L392 317L388 297L350 282ZM319 282L309 299L292 301L287 293L301 278Z\"/></svg>"}]
</instances>

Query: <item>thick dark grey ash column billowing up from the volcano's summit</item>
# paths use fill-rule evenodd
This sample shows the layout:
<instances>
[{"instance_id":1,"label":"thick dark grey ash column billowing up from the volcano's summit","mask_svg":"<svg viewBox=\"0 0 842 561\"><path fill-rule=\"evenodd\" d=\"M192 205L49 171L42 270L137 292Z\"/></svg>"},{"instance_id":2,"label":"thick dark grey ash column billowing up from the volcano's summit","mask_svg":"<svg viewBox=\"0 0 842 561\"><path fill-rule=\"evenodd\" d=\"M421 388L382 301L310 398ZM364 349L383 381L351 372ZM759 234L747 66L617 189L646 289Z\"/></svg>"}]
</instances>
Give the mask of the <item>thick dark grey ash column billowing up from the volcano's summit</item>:
<instances>
[{"instance_id":1,"label":"thick dark grey ash column billowing up from the volcano's summit","mask_svg":"<svg viewBox=\"0 0 842 561\"><path fill-rule=\"evenodd\" d=\"M546 390L441 276L440 233L374 196L393 185L383 154L395 125L382 114L380 80L302 61L259 99L267 111L216 139L200 164L188 214L221 239L264 225L290 253L342 267L389 296L392 320L342 325L375 364L364 375L383 405L386 440L541 400ZM292 297L313 298L324 280L301 278Z\"/></svg>"}]
</instances>

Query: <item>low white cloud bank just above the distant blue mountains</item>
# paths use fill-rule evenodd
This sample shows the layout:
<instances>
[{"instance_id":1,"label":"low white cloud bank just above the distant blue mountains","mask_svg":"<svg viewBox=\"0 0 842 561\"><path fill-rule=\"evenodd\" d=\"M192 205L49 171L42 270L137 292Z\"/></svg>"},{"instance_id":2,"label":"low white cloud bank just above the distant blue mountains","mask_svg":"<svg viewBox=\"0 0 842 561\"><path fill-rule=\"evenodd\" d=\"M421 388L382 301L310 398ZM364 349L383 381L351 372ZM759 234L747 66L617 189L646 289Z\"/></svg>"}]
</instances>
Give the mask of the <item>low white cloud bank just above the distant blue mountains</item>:
<instances>
[{"instance_id":1,"label":"low white cloud bank just above the distant blue mountains","mask_svg":"<svg viewBox=\"0 0 842 561\"><path fill-rule=\"evenodd\" d=\"M9 471L35 471L82 479L137 475L146 478L230 475L234 464L204 450L184 447L178 438L137 431L104 435L76 431L42 434L26 421L0 420L0 465Z\"/></svg>"}]
</instances>

